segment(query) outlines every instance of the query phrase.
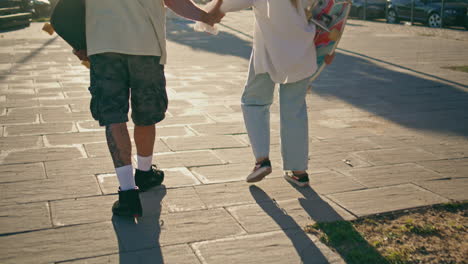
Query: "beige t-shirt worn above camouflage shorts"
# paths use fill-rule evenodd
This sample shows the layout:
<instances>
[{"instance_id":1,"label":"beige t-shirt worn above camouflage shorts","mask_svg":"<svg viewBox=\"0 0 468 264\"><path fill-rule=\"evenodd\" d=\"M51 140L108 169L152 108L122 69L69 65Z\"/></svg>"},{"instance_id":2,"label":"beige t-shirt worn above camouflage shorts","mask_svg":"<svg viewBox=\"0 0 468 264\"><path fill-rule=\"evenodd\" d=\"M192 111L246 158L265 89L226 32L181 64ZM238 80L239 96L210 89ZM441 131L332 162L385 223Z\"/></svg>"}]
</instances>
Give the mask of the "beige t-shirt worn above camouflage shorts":
<instances>
[{"instance_id":1,"label":"beige t-shirt worn above camouflage shorts","mask_svg":"<svg viewBox=\"0 0 468 264\"><path fill-rule=\"evenodd\" d=\"M163 0L86 0L88 55L161 56L165 64L165 23Z\"/></svg>"}]
</instances>

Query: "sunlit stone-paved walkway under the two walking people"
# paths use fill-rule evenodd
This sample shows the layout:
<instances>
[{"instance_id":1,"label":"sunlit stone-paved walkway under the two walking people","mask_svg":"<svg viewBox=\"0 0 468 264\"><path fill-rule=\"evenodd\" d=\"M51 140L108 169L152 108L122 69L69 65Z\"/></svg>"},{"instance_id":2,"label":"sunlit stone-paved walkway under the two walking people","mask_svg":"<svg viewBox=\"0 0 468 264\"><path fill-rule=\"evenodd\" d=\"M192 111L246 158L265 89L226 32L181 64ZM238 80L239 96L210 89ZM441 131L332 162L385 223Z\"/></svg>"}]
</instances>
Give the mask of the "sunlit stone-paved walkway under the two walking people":
<instances>
[{"instance_id":1,"label":"sunlit stone-paved walkway under the two walking people","mask_svg":"<svg viewBox=\"0 0 468 264\"><path fill-rule=\"evenodd\" d=\"M351 20L308 95L311 188L253 157L239 98L252 13L218 36L168 24L170 97L158 126L165 186L138 222L112 217L117 180L88 112L88 70L40 24L0 33L1 263L343 263L302 228L468 199L467 32ZM433 32L433 31L431 31Z\"/></svg>"}]
</instances>

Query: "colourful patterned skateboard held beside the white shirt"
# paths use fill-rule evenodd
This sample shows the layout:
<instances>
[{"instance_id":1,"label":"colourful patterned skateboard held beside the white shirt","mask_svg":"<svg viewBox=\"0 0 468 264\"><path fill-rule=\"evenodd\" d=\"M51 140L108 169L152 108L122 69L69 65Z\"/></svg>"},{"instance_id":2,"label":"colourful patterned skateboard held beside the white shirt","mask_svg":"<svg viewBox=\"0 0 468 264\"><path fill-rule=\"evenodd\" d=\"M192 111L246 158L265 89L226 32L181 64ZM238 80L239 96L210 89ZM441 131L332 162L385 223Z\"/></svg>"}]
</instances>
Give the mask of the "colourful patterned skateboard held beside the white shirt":
<instances>
[{"instance_id":1,"label":"colourful patterned skateboard held beside the white shirt","mask_svg":"<svg viewBox=\"0 0 468 264\"><path fill-rule=\"evenodd\" d=\"M310 81L317 79L327 66L326 61L334 55L350 10L350 0L317 0L307 7L307 18L317 28L314 38L317 71L312 75Z\"/></svg>"}]
</instances>

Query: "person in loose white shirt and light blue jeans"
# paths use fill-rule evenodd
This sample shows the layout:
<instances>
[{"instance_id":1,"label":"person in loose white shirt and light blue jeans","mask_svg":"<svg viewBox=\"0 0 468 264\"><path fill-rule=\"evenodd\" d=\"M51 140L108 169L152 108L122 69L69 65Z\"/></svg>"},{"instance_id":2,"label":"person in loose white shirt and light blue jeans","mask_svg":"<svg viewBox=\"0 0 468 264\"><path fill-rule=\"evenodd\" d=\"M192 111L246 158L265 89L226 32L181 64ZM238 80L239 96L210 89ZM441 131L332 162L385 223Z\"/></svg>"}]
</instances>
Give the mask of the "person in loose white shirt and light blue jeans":
<instances>
[{"instance_id":1,"label":"person in loose white shirt and light blue jeans","mask_svg":"<svg viewBox=\"0 0 468 264\"><path fill-rule=\"evenodd\" d=\"M281 153L285 178L299 186L309 184L306 92L317 70L315 25L305 8L310 0L223 0L221 12L252 7L255 13L249 77L242 95L242 111L256 163L247 182L271 173L269 160L270 112L279 84Z\"/></svg>"}]
</instances>

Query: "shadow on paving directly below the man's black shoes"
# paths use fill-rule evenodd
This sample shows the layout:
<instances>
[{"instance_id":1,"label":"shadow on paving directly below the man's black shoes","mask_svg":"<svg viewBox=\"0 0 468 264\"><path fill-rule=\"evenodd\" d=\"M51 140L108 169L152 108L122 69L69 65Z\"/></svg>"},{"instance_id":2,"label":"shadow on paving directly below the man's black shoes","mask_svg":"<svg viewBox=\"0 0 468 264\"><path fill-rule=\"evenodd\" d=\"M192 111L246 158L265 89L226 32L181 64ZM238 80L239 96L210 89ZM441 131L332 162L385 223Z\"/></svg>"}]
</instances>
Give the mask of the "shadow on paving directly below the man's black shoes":
<instances>
[{"instance_id":1,"label":"shadow on paving directly below the man's black shoes","mask_svg":"<svg viewBox=\"0 0 468 264\"><path fill-rule=\"evenodd\" d=\"M159 244L161 233L161 202L166 195L165 186L140 194L143 217L112 217L119 242L120 264L164 263Z\"/></svg>"}]
</instances>

